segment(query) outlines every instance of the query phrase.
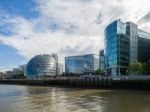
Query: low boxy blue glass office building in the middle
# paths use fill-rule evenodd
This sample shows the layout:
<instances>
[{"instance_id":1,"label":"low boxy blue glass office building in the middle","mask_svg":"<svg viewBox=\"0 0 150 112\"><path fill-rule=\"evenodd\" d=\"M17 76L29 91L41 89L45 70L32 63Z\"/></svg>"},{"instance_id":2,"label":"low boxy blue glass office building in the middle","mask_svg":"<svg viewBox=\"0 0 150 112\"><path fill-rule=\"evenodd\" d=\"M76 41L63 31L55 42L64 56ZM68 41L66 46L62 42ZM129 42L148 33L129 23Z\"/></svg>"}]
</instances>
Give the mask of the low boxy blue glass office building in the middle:
<instances>
[{"instance_id":1,"label":"low boxy blue glass office building in the middle","mask_svg":"<svg viewBox=\"0 0 150 112\"><path fill-rule=\"evenodd\" d=\"M65 57L65 72L74 74L93 73L99 68L99 57L95 54Z\"/></svg>"}]
</instances>

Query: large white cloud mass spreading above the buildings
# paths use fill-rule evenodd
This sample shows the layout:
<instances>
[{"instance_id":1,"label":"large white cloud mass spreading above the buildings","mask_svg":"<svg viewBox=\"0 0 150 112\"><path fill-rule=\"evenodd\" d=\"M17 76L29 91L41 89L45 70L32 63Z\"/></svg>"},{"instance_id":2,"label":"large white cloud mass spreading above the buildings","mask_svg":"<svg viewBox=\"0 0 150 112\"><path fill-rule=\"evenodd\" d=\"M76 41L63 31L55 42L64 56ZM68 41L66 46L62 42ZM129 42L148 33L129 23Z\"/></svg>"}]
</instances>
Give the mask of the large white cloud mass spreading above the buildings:
<instances>
[{"instance_id":1,"label":"large white cloud mass spreading above the buildings","mask_svg":"<svg viewBox=\"0 0 150 112\"><path fill-rule=\"evenodd\" d=\"M27 20L6 14L7 19L2 19L3 23L12 25L14 35L0 35L0 42L16 48L27 60L40 53L58 53L61 61L66 55L98 53L104 46L106 25L119 18L138 23L150 9L148 0L36 2L39 17ZM146 23L139 25L148 30Z\"/></svg>"}]
</instances>

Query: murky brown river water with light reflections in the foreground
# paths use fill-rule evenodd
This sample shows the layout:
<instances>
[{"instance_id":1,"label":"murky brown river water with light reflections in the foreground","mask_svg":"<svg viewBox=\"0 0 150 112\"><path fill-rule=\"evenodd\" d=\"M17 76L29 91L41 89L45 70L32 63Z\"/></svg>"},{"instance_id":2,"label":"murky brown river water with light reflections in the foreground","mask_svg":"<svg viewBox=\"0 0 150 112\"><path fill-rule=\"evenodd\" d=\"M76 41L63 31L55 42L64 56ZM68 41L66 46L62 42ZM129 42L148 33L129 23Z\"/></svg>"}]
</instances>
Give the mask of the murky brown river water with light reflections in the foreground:
<instances>
[{"instance_id":1,"label":"murky brown river water with light reflections in the foreground","mask_svg":"<svg viewBox=\"0 0 150 112\"><path fill-rule=\"evenodd\" d=\"M0 112L150 112L150 92L0 85Z\"/></svg>"}]
</instances>

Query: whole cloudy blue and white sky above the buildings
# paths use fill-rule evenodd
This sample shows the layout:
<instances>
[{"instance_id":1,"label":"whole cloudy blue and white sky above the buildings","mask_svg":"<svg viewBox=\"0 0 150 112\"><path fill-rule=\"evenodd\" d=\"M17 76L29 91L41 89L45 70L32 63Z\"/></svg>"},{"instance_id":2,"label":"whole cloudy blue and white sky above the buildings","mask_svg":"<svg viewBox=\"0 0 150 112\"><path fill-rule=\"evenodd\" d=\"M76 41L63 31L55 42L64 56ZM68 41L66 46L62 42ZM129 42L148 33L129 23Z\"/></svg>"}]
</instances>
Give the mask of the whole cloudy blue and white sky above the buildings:
<instances>
[{"instance_id":1,"label":"whole cloudy blue and white sky above the buildings","mask_svg":"<svg viewBox=\"0 0 150 112\"><path fill-rule=\"evenodd\" d=\"M0 0L0 71L37 54L64 57L104 48L104 29L116 19L150 32L149 0Z\"/></svg>"}]
</instances>

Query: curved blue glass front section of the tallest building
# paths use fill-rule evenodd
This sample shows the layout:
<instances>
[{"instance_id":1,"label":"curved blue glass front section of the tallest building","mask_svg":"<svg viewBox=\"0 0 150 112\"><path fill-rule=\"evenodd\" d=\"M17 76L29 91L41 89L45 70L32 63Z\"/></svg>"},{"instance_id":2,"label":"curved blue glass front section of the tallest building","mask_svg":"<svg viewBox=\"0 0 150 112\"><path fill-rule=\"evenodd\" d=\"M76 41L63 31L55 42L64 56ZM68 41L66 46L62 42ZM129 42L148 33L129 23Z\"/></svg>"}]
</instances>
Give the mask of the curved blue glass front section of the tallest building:
<instances>
[{"instance_id":1,"label":"curved blue glass front section of the tallest building","mask_svg":"<svg viewBox=\"0 0 150 112\"><path fill-rule=\"evenodd\" d=\"M129 65L129 36L126 24L114 21L105 29L107 74L125 74Z\"/></svg>"}]
</instances>

